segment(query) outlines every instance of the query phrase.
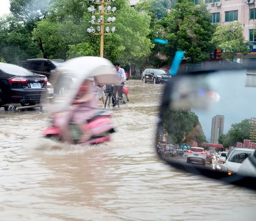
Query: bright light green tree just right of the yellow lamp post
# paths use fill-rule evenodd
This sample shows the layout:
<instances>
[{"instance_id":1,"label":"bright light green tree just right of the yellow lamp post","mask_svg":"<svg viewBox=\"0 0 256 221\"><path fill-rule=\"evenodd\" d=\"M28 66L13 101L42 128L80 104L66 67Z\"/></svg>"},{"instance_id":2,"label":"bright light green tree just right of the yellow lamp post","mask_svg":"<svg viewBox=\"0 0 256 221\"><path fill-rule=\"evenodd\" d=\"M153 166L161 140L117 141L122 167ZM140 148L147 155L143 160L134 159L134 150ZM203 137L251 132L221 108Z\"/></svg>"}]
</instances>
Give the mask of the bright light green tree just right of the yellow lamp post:
<instances>
[{"instance_id":1,"label":"bright light green tree just right of the yellow lamp post","mask_svg":"<svg viewBox=\"0 0 256 221\"><path fill-rule=\"evenodd\" d=\"M106 58L113 62L121 60L122 65L131 62L137 64L140 58L150 54L153 45L148 39L150 17L136 12L126 0L116 11L115 17L113 26L116 31L105 37Z\"/></svg>"}]
</instances>

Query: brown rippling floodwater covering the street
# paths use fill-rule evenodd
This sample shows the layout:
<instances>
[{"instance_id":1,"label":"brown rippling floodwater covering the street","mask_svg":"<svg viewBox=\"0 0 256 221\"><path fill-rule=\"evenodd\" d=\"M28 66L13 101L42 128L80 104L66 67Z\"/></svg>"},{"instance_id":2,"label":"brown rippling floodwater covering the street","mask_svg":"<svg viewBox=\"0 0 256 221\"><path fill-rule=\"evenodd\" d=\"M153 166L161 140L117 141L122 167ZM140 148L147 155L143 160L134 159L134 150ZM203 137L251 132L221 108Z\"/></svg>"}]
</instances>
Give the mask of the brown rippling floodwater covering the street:
<instances>
[{"instance_id":1,"label":"brown rippling floodwater covering the street","mask_svg":"<svg viewBox=\"0 0 256 221\"><path fill-rule=\"evenodd\" d=\"M105 144L50 141L40 134L49 114L1 108L0 220L254 220L255 192L159 160L164 85L129 80L126 87L130 102L114 108L116 133Z\"/></svg>"}]
</instances>

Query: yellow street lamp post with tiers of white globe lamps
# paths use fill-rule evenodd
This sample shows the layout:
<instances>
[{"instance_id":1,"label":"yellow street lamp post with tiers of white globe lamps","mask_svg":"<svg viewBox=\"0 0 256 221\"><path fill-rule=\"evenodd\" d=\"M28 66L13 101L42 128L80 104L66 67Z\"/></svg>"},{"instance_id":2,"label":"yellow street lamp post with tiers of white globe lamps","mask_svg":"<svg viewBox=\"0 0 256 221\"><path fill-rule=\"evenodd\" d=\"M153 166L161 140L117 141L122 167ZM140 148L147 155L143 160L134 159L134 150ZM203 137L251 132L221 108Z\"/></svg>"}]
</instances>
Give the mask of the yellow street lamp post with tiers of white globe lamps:
<instances>
[{"instance_id":1,"label":"yellow street lamp post with tiers of white globe lamps","mask_svg":"<svg viewBox=\"0 0 256 221\"><path fill-rule=\"evenodd\" d=\"M92 25L100 25L100 26L97 26L98 33L95 33L95 29L93 26L91 26L90 28L87 28L87 32L95 34L95 35L100 35L100 57L102 57L102 58L103 58L103 48L104 48L104 35L111 34L116 29L113 26L111 28L111 33L110 33L110 27L106 26L105 33L104 33L104 25L110 25L111 23L113 23L116 20L115 17L112 17L112 18L109 17L107 20L107 23L104 23L104 15L109 15L116 11L116 7L113 7L111 9L111 6L107 6L106 12L105 12L104 6L110 4L111 2L114 2L115 0L105 0L105 1L104 0L90 0L90 2L99 5L98 6L99 12L95 12L94 6L88 7L89 12L91 12L92 14L95 14L95 15L100 15L100 18L98 18L97 22L95 22L96 21L95 15L92 15L92 20L89 21L90 23L92 23Z\"/></svg>"}]
</instances>

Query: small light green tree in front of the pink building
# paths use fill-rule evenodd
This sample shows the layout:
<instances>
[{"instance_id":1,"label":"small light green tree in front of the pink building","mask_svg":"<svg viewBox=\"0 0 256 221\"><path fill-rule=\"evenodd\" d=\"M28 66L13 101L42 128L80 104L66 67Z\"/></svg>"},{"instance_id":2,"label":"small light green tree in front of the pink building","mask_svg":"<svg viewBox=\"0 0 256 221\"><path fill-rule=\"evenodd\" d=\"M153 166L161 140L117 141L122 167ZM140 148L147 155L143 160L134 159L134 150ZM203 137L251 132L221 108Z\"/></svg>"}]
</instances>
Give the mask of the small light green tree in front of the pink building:
<instances>
[{"instance_id":1,"label":"small light green tree in front of the pink building","mask_svg":"<svg viewBox=\"0 0 256 221\"><path fill-rule=\"evenodd\" d=\"M212 37L212 43L218 50L222 50L225 58L233 60L238 52L242 53L242 55L247 55L251 52L253 45L246 41L242 30L242 24L238 21L234 21L230 25L217 27Z\"/></svg>"}]
</instances>

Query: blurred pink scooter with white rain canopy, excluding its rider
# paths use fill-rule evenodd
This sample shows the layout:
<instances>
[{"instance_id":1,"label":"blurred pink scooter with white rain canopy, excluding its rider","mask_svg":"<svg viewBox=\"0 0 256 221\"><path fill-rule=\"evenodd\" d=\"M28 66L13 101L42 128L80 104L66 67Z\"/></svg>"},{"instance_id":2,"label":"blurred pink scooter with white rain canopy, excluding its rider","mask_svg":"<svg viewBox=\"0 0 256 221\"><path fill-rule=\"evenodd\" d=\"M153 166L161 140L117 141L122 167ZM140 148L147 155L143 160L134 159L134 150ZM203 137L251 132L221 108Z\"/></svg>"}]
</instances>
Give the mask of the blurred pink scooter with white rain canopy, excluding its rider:
<instances>
[{"instance_id":1,"label":"blurred pink scooter with white rain canopy, excluding its rider","mask_svg":"<svg viewBox=\"0 0 256 221\"><path fill-rule=\"evenodd\" d=\"M112 71L113 64L105 58L83 56L66 61L53 74L53 87L59 88L62 85L68 85L68 91L63 95L56 95L54 99L44 99L42 101L43 110L52 114L52 123L49 128L42 131L46 138L54 138L62 141L62 130L56 126L57 120L68 120L69 115L56 114L65 113L73 106L74 99L81 88L85 79L95 80L97 84L114 84L117 82L117 76ZM65 81L64 81L65 80ZM68 82L66 82L68 80ZM87 119L84 125L84 131L90 131L91 137L86 142L77 142L81 138L81 127L77 124L69 124L70 136L74 144L99 144L110 141L111 133L114 133L114 125L111 122L112 112L105 109L98 109L95 115ZM58 117L57 117L58 116ZM63 116L63 117L62 117ZM86 128L85 128L86 126ZM82 126L83 128L83 126Z\"/></svg>"}]
</instances>

